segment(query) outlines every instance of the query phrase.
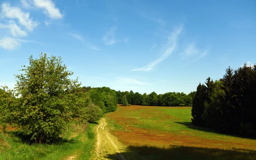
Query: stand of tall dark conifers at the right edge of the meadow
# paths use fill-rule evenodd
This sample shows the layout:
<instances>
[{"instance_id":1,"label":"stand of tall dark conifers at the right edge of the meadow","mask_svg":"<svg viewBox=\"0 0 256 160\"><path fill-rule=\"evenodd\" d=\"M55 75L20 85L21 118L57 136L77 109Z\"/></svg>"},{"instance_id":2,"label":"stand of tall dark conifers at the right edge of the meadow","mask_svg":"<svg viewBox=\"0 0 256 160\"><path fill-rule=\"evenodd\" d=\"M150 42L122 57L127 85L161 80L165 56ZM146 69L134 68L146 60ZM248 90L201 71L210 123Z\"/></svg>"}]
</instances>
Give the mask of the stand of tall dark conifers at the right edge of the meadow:
<instances>
[{"instance_id":1,"label":"stand of tall dark conifers at the right edge of the meadow","mask_svg":"<svg viewBox=\"0 0 256 160\"><path fill-rule=\"evenodd\" d=\"M192 123L218 131L256 136L256 65L230 67L222 79L199 84L193 99Z\"/></svg>"}]
</instances>

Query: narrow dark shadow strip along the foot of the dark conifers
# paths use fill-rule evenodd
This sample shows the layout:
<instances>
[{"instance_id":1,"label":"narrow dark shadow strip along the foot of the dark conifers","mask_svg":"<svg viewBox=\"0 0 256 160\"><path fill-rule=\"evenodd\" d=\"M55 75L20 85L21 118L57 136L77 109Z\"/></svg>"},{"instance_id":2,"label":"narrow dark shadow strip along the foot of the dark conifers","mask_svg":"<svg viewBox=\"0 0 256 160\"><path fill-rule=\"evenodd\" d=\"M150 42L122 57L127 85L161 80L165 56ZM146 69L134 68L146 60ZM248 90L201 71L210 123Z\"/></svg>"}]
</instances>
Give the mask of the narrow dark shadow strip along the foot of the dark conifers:
<instances>
[{"instance_id":1,"label":"narrow dark shadow strip along the foot of the dark conifers","mask_svg":"<svg viewBox=\"0 0 256 160\"><path fill-rule=\"evenodd\" d=\"M243 137L241 135L226 134L226 133L223 133L223 132L218 131L216 129L202 127L202 126L195 126L191 122L174 122L174 123L182 124L182 125L186 126L187 128L195 129L195 130L198 130L198 131L204 131L204 132L208 132L208 133L215 133L215 134L219 134L219 135L228 135L228 136L237 137L237 138L246 138L246 139L256 140L256 138L252 138L252 137Z\"/></svg>"}]
</instances>

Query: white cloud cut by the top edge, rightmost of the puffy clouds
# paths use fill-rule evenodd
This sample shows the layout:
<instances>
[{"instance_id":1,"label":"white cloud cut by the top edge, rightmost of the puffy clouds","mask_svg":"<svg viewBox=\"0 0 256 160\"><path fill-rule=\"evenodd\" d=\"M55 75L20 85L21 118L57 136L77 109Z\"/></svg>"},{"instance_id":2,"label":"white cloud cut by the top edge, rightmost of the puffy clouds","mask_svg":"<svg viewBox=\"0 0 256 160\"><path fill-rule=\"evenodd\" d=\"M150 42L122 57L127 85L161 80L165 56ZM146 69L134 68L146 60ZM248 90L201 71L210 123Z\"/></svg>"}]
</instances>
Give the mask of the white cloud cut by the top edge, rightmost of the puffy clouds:
<instances>
[{"instance_id":1,"label":"white cloud cut by the top edge, rightmost of the puffy clouds","mask_svg":"<svg viewBox=\"0 0 256 160\"><path fill-rule=\"evenodd\" d=\"M53 19L60 19L64 15L60 13L58 8L55 8L55 4L52 0L33 0L33 4L36 8L44 9L44 14Z\"/></svg>"}]
</instances>

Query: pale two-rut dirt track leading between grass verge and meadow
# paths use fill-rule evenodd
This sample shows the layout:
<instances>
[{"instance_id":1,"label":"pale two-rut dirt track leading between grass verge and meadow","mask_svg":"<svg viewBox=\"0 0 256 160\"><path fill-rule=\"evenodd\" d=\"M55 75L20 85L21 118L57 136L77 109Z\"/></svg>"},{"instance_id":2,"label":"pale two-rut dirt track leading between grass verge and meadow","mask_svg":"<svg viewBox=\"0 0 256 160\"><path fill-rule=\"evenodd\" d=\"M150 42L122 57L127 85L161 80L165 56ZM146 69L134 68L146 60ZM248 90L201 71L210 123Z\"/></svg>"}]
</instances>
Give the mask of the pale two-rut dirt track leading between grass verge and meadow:
<instances>
[{"instance_id":1,"label":"pale two-rut dirt track leading between grass verge and meadow","mask_svg":"<svg viewBox=\"0 0 256 160\"><path fill-rule=\"evenodd\" d=\"M108 124L105 118L101 118L99 125L95 127L97 143L90 160L126 160L122 155L125 147L116 137L108 131Z\"/></svg>"}]
</instances>

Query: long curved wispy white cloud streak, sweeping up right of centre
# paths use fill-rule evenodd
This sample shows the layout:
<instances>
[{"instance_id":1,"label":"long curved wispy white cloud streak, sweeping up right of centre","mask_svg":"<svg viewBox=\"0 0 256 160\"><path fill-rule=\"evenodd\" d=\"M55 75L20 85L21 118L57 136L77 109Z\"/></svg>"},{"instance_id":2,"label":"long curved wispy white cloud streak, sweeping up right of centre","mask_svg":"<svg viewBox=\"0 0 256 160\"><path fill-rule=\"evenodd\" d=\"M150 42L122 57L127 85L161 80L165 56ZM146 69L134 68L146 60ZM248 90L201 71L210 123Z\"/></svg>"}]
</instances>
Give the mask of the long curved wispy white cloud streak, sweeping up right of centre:
<instances>
[{"instance_id":1,"label":"long curved wispy white cloud streak, sweeping up right of centre","mask_svg":"<svg viewBox=\"0 0 256 160\"><path fill-rule=\"evenodd\" d=\"M167 57L169 57L172 52L174 51L176 45L177 45L177 38L180 32L183 30L183 25L177 26L173 31L172 34L169 35L166 45L164 45L162 49L162 53L159 58L151 62L150 64L146 65L145 67L133 69L131 71L149 71L152 70L152 68L157 65L158 63L165 60Z\"/></svg>"}]
</instances>

